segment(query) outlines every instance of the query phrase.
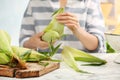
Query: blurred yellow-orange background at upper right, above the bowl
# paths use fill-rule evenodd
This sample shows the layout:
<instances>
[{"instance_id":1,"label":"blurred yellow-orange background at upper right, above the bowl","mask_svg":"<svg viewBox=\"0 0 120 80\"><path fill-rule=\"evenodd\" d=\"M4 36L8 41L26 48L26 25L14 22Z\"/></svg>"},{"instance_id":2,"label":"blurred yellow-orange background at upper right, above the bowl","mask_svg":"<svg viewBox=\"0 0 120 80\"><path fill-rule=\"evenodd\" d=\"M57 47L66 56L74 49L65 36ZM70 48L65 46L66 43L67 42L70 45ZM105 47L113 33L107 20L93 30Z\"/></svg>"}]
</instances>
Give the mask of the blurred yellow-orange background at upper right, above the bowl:
<instances>
[{"instance_id":1,"label":"blurred yellow-orange background at upper right, above the bowl","mask_svg":"<svg viewBox=\"0 0 120 80\"><path fill-rule=\"evenodd\" d=\"M107 31L116 34L120 24L120 0L102 0L101 7ZM120 30L118 30L120 32Z\"/></svg>"}]
</instances>

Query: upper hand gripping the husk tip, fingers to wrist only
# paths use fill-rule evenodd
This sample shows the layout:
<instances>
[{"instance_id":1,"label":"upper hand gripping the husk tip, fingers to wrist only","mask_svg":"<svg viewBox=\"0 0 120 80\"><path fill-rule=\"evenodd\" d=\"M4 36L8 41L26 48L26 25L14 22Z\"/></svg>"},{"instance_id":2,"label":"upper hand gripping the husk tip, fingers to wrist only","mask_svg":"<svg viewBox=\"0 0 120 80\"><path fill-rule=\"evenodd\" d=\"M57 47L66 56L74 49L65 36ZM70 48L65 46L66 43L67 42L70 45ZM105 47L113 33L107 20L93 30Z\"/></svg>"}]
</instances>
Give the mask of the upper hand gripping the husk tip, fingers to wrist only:
<instances>
[{"instance_id":1,"label":"upper hand gripping the husk tip, fingers to wrist only","mask_svg":"<svg viewBox=\"0 0 120 80\"><path fill-rule=\"evenodd\" d=\"M79 25L79 20L77 16L72 13L65 12L56 16L58 22L66 25L72 32L76 31Z\"/></svg>"}]
</instances>

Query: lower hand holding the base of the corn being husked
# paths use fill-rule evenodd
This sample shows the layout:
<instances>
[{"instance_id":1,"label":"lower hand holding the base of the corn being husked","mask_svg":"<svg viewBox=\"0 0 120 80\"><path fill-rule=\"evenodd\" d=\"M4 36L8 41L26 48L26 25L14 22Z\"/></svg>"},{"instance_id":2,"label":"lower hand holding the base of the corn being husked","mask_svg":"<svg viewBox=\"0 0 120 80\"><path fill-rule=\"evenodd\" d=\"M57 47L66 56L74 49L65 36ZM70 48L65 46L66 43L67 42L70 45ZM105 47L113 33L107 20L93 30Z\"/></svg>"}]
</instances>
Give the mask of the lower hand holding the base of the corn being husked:
<instances>
[{"instance_id":1,"label":"lower hand holding the base of the corn being husked","mask_svg":"<svg viewBox=\"0 0 120 80\"><path fill-rule=\"evenodd\" d=\"M25 41L23 46L35 50L37 48L40 49L48 48L49 47L48 43L41 39L43 34L44 34L43 32L35 34L29 40Z\"/></svg>"}]
</instances>

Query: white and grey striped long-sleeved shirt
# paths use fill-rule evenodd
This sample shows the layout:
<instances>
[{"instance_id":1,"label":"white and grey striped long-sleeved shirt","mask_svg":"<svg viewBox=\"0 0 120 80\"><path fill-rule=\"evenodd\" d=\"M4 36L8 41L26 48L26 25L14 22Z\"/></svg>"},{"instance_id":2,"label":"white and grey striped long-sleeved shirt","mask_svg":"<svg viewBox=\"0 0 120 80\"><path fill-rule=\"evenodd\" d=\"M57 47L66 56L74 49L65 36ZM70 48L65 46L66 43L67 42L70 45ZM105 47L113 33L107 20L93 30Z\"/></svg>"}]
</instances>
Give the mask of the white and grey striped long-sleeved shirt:
<instances>
[{"instance_id":1,"label":"white and grey striped long-sleeved shirt","mask_svg":"<svg viewBox=\"0 0 120 80\"><path fill-rule=\"evenodd\" d=\"M58 8L59 0L30 0L21 25L20 46L32 35L42 32L52 19L52 13ZM83 27L90 34L95 35L99 40L99 46L94 51L87 50L73 33L65 27L64 34L66 36L62 40L57 41L57 43L62 43L61 49L67 45L86 52L104 53L106 51L105 25L101 13L100 1L68 0L65 11L74 13L78 17L80 27Z\"/></svg>"}]
</instances>

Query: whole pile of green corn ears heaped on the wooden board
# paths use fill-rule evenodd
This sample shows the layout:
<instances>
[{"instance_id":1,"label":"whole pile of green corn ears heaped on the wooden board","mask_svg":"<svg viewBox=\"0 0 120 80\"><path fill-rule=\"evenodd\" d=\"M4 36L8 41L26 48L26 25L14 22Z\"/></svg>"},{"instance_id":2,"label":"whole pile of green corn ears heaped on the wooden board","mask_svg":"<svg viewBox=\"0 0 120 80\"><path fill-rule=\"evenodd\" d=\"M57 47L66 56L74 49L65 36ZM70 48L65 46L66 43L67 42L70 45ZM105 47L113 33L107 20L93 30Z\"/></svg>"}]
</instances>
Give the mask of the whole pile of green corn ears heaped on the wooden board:
<instances>
[{"instance_id":1,"label":"whole pile of green corn ears heaped on the wooden board","mask_svg":"<svg viewBox=\"0 0 120 80\"><path fill-rule=\"evenodd\" d=\"M40 61L46 56L27 48L11 46L10 35L0 30L0 64L26 68L26 61Z\"/></svg>"}]
</instances>

